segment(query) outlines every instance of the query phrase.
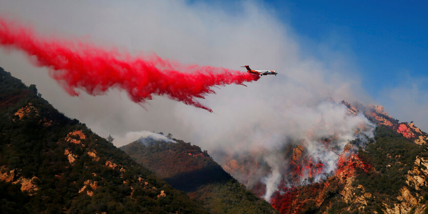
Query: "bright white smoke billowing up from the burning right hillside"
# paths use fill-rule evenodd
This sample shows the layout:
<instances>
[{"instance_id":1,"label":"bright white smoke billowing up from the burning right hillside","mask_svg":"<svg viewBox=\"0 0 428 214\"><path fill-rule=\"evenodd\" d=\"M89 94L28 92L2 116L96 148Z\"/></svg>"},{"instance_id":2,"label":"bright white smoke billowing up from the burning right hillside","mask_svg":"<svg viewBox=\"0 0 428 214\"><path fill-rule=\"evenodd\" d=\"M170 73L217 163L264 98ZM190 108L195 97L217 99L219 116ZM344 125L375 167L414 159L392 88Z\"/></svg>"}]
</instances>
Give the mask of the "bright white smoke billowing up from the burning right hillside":
<instances>
[{"instance_id":1,"label":"bright white smoke billowing up from the burning right hillside","mask_svg":"<svg viewBox=\"0 0 428 214\"><path fill-rule=\"evenodd\" d=\"M222 165L226 165L232 157L239 160L240 157L250 156L260 160L258 163L265 167L260 167L259 170L246 170L244 173L233 170L231 173L250 188L257 181L265 184L266 192L263 197L267 201L273 192L278 190L281 180L289 179L290 166L287 163L289 157L284 157L288 145L302 145L308 157L315 163L323 164L322 173L315 175L311 181L308 181L309 172L303 171L304 175L298 184L305 184L320 181L325 178L325 174L331 175L337 167L340 153L348 142L358 137L362 138L363 135L373 137L374 124L362 114L350 115L347 108L340 103L321 101L309 105L296 102L281 110L275 110L267 103L264 111L260 112L259 117L257 115L249 117L247 123L242 123L243 126L239 128L234 127L231 120L226 121L225 125L229 123L227 127L234 129L230 132L221 132L226 133L225 135L206 138L205 145L212 146L211 151L216 151L212 156ZM272 115L269 112L276 114ZM264 115L267 116L266 120L263 120ZM259 120L252 121L254 118ZM238 121L237 118L234 119ZM357 130L359 132L356 132ZM205 135L207 137L207 133ZM328 146L320 142L320 139L324 138L331 140ZM229 159L225 158L225 154ZM243 161L241 167L256 167L252 162L247 163L248 165Z\"/></svg>"}]
</instances>

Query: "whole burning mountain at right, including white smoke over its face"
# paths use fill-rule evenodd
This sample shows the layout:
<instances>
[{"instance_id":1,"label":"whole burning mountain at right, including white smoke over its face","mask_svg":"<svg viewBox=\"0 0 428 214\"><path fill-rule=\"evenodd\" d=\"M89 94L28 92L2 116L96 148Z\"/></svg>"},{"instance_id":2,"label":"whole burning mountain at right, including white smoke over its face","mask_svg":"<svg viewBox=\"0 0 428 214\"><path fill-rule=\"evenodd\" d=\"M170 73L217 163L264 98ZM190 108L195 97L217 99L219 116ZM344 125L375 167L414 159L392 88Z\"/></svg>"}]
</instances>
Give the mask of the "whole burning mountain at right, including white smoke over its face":
<instances>
[{"instance_id":1,"label":"whole burning mountain at right, including white smoke over its face","mask_svg":"<svg viewBox=\"0 0 428 214\"><path fill-rule=\"evenodd\" d=\"M329 135L310 129L303 139L287 138L276 150L254 149L241 156L223 151L228 160L223 168L281 213L391 213L408 212L412 206L423 210L422 193L409 189L426 186L420 182L425 171L418 162L421 154L426 156L426 147L420 147L426 133L413 123L393 119L382 106L345 101L339 105L346 107L345 118L364 117L373 123L356 124L352 138L344 140L337 127L330 130L334 126L319 120L323 125L317 129L328 130ZM375 135L374 123L379 125Z\"/></svg>"}]
</instances>

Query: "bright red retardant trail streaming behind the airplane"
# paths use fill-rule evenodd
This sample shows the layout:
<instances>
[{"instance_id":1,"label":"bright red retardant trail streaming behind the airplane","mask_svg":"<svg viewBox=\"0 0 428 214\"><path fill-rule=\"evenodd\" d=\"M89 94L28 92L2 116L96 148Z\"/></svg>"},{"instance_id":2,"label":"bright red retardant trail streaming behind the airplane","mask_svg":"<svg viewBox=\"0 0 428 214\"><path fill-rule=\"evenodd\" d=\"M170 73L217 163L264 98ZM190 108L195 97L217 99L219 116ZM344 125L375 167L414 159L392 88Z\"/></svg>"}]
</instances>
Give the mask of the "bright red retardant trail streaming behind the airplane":
<instances>
[{"instance_id":1,"label":"bright red retardant trail streaming behind the airplane","mask_svg":"<svg viewBox=\"0 0 428 214\"><path fill-rule=\"evenodd\" d=\"M50 76L72 96L78 95L76 89L100 95L110 88L119 88L136 103L150 100L152 95L166 95L212 112L195 98L214 93L212 87L216 85L243 84L260 78L225 68L181 65L157 55L132 57L129 53L106 51L78 40L41 37L2 17L0 45L34 56L35 65L48 67Z\"/></svg>"}]
</instances>

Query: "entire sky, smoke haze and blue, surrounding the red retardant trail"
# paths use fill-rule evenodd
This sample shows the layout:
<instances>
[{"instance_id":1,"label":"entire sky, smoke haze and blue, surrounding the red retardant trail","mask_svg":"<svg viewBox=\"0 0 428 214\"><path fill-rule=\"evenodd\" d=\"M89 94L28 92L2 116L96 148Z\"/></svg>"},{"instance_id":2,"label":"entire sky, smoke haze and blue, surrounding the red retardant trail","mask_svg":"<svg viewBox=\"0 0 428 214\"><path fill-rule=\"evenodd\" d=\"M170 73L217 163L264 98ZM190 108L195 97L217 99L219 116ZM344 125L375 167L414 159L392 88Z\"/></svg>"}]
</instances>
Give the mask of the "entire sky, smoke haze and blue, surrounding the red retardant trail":
<instances>
[{"instance_id":1,"label":"entire sky, smoke haze and blue, surrounding the red retardant trail","mask_svg":"<svg viewBox=\"0 0 428 214\"><path fill-rule=\"evenodd\" d=\"M59 111L101 136L115 136L117 145L125 143L120 138L127 132L156 131L192 142L209 138L204 145L211 148L221 139L218 133L241 135L244 127L257 124L266 130L293 124L269 123L278 115L307 121L307 114L290 118L284 112L319 109L316 106L329 97L381 104L396 119L415 121L428 130L424 4L0 0L0 14L44 35L86 38L134 55L155 52L184 63L230 69L250 65L279 73L247 88L216 89L217 94L201 101L213 114L163 97L141 108L114 89L104 96L70 97L46 68L35 68L16 51L0 49L0 66L26 84L36 84ZM242 128L235 130L238 127Z\"/></svg>"}]
</instances>

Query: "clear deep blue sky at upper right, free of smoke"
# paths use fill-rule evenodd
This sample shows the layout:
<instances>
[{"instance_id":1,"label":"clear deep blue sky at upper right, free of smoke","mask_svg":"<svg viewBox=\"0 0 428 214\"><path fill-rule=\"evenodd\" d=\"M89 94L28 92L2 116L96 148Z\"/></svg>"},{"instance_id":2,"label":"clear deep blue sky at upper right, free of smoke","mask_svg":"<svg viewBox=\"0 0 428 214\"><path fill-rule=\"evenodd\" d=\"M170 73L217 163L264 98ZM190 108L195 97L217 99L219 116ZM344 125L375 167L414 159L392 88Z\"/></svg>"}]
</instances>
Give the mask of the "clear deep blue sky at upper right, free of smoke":
<instances>
[{"instance_id":1,"label":"clear deep blue sky at upper right, free of smoke","mask_svg":"<svg viewBox=\"0 0 428 214\"><path fill-rule=\"evenodd\" d=\"M313 41L337 37L359 66L374 98L402 84L406 75L428 75L428 14L424 1L271 1L297 34ZM404 78L404 80L403 80ZM423 87L423 85L421 85ZM426 87L425 87L426 89Z\"/></svg>"}]
</instances>

